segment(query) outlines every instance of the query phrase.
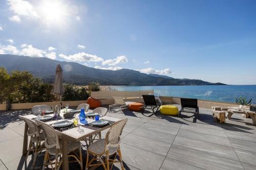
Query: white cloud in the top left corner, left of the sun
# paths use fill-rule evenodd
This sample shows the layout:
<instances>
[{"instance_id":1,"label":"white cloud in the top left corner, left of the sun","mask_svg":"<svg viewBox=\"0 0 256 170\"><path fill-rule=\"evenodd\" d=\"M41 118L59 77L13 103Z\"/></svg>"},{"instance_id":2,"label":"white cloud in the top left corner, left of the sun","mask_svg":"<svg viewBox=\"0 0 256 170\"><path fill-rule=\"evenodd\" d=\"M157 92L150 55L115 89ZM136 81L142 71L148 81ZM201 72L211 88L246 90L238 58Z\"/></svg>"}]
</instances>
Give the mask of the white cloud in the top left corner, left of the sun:
<instances>
[{"instance_id":1,"label":"white cloud in the top left corner, left of the sun","mask_svg":"<svg viewBox=\"0 0 256 170\"><path fill-rule=\"evenodd\" d=\"M7 0L10 10L13 11L18 16L26 16L29 18L38 18L37 12L34 10L33 6L24 0Z\"/></svg>"}]
</instances>

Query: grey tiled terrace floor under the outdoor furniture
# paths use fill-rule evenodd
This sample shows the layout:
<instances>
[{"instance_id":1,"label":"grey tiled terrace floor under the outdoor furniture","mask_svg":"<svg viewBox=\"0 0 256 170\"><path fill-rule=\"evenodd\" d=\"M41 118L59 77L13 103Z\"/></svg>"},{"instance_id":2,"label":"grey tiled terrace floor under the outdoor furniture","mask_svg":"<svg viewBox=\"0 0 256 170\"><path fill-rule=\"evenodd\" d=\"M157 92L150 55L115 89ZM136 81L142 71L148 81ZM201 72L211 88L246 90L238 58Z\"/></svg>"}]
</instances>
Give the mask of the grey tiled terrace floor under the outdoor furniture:
<instances>
[{"instance_id":1,"label":"grey tiled terrace floor under the outdoor furniture","mask_svg":"<svg viewBox=\"0 0 256 170\"><path fill-rule=\"evenodd\" d=\"M24 122L18 118L28 113L0 112L1 170L31 169L31 156L26 163L22 156ZM256 169L256 127L240 114L226 119L226 124L214 123L209 109L200 109L199 120L191 113L181 118L159 113L146 117L127 109L107 115L129 119L121 140L125 169ZM85 166L85 151L83 157ZM44 153L36 169L41 169L43 158Z\"/></svg>"}]
</instances>

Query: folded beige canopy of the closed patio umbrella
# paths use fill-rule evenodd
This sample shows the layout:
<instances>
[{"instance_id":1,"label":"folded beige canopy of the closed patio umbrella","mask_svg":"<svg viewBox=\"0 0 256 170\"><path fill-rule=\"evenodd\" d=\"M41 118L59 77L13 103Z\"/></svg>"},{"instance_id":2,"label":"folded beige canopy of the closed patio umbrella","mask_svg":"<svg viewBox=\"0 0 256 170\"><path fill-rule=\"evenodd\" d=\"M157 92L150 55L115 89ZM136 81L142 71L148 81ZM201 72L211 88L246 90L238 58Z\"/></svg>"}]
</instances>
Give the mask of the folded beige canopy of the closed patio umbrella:
<instances>
[{"instance_id":1,"label":"folded beige canopy of the closed patio umbrella","mask_svg":"<svg viewBox=\"0 0 256 170\"><path fill-rule=\"evenodd\" d=\"M62 80L62 68L58 64L56 67L55 83L53 88L53 93L59 96L61 101L61 95L63 94L63 80Z\"/></svg>"}]
</instances>

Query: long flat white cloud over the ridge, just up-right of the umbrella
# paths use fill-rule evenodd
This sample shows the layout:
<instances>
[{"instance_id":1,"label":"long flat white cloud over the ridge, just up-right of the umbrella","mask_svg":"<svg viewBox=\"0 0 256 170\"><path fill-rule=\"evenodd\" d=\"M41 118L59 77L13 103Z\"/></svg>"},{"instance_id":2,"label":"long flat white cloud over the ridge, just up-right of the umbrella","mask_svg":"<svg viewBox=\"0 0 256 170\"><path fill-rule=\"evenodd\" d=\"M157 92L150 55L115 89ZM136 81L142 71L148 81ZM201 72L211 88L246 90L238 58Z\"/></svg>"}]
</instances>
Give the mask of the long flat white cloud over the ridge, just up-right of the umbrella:
<instances>
[{"instance_id":1,"label":"long flat white cloud over the ridge, just up-right of the umbrella","mask_svg":"<svg viewBox=\"0 0 256 170\"><path fill-rule=\"evenodd\" d=\"M70 60L70 61L85 61L85 62L100 62L103 61L102 58L96 56L96 55L92 55L92 54L87 54L87 53L77 53L74 55L63 55L63 54L59 54L59 57L64 58L66 60Z\"/></svg>"}]
</instances>

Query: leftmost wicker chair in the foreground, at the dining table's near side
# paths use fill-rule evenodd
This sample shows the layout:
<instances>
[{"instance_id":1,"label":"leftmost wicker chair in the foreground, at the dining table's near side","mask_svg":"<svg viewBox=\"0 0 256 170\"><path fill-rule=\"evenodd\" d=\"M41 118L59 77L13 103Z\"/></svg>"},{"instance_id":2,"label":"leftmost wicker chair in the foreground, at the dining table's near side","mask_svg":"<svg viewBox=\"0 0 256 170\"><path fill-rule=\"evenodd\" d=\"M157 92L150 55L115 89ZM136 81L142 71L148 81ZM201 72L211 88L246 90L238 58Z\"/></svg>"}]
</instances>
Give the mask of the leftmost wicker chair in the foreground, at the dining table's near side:
<instances>
[{"instance_id":1,"label":"leftmost wicker chair in the foreground, at the dining table's near side","mask_svg":"<svg viewBox=\"0 0 256 170\"><path fill-rule=\"evenodd\" d=\"M45 136L44 136L44 133L40 132L35 122L25 117L21 117L20 119L23 119L29 127L27 135L30 136L30 142L29 142L29 148L28 148L28 152L25 159L26 160L28 159L29 153L32 151L34 155L34 158L33 158L33 167L34 167L37 155L42 150L45 150L45 144L44 144Z\"/></svg>"}]
</instances>

